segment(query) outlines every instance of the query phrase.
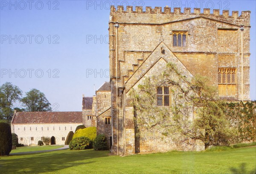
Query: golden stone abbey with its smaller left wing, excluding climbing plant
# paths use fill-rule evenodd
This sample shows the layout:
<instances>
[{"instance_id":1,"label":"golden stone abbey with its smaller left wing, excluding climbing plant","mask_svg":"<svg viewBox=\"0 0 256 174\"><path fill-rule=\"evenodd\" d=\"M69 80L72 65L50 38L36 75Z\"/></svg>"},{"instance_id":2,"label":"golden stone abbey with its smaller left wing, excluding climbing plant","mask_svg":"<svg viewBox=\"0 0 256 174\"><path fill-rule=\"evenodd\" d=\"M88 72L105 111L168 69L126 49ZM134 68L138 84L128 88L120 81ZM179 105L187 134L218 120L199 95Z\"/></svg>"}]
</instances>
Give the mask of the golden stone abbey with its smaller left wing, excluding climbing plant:
<instances>
[{"instance_id":1,"label":"golden stone abbey with its smaller left wing, excluding climbing plant","mask_svg":"<svg viewBox=\"0 0 256 174\"><path fill-rule=\"evenodd\" d=\"M129 93L138 89L144 77L160 75L169 62L186 75L209 77L224 100L250 100L250 11L239 15L215 9L210 13L210 9L181 12L180 8L146 7L143 11L142 7L111 6L110 81L95 96L83 96L82 122L108 137L112 154L204 149L199 141L174 141L157 132L157 138L136 138ZM158 88L162 90L156 96L157 105L170 106L174 100L170 86Z\"/></svg>"}]
</instances>

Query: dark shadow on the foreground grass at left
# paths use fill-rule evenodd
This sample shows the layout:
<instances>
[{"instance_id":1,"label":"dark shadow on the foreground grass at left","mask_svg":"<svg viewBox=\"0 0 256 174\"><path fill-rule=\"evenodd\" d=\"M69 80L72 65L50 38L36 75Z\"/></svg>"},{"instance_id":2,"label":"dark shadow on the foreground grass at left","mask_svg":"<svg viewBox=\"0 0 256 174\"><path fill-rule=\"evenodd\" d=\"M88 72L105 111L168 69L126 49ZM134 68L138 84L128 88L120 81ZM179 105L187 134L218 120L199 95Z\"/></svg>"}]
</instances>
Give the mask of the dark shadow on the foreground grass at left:
<instances>
[{"instance_id":1,"label":"dark shadow on the foreground grass at left","mask_svg":"<svg viewBox=\"0 0 256 174\"><path fill-rule=\"evenodd\" d=\"M93 151L90 149L83 151L61 150L38 154L12 155L1 159L1 174L16 172L47 172L58 174L58 170L93 163L94 161L91 159L100 157L108 157L108 152Z\"/></svg>"}]
</instances>

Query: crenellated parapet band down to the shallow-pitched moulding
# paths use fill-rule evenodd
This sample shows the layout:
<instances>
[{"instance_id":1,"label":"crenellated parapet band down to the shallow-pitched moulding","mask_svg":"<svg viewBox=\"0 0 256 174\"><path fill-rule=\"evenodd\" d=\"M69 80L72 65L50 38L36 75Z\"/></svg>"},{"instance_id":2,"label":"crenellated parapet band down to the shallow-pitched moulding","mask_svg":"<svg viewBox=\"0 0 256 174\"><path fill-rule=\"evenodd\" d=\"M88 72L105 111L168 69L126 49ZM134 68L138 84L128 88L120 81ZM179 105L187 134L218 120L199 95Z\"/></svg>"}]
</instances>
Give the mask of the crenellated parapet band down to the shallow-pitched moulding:
<instances>
[{"instance_id":1,"label":"crenellated parapet band down to the shallow-pitched moulding","mask_svg":"<svg viewBox=\"0 0 256 174\"><path fill-rule=\"evenodd\" d=\"M121 13L122 15L120 15ZM172 21L172 18L177 20L177 16L182 16L180 17L181 20L182 18L206 17L214 20L221 20L221 21L226 20L227 22L233 23L234 25L250 26L250 11L242 11L241 15L239 16L239 11L232 11L232 13L230 13L230 11L228 10L223 10L222 14L220 14L219 9L214 9L213 13L210 13L210 9L204 9L203 13L201 13L201 9L199 8L194 8L193 12L191 11L191 8L184 8L184 11L181 12L180 8L174 8L174 11L172 11L170 7L164 7L163 10L162 10L162 7L155 7L155 8L146 7L145 11L143 11L143 7L141 6L136 6L136 9L134 9L133 6L127 6L126 10L124 10L123 6L117 6L117 8L115 8L115 6L111 6L111 15L123 16L123 17L115 18L116 22L120 22L120 23L122 23L123 21L127 22L127 19L125 19L124 17L127 17L127 16L135 17L136 15L137 17L139 16L142 19L144 18L144 20L142 20L139 23L147 23L148 22L146 18L147 14L148 14L148 17L156 16L156 18L154 19L159 19L155 21L156 23L157 22L166 23L168 21ZM143 17L141 15L143 15ZM163 15L166 15L166 17ZM162 19L160 19L160 17ZM166 20L164 20L164 18L166 18ZM134 19L134 21L135 20L138 22L137 19ZM110 22L113 22L113 21L110 21ZM133 18L131 18L130 22L133 23ZM151 19L150 23L152 22L154 21L152 21Z\"/></svg>"}]
</instances>

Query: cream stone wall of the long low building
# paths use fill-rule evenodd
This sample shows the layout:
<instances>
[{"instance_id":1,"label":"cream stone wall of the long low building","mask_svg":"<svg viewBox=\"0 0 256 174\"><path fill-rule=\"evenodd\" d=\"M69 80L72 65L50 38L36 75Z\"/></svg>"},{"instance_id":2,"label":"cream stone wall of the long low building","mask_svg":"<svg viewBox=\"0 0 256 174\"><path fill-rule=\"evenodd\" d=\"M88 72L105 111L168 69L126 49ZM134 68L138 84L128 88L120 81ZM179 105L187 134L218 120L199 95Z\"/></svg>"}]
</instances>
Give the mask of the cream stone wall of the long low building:
<instances>
[{"instance_id":1,"label":"cream stone wall of the long low building","mask_svg":"<svg viewBox=\"0 0 256 174\"><path fill-rule=\"evenodd\" d=\"M19 143L24 145L37 145L41 137L55 137L56 144L64 145L67 134L70 131L75 132L76 127L82 123L67 123L67 124L12 124L12 133L17 134ZM31 140L31 137L34 140ZM62 140L65 137L65 140ZM22 138L23 140L20 140Z\"/></svg>"}]
</instances>

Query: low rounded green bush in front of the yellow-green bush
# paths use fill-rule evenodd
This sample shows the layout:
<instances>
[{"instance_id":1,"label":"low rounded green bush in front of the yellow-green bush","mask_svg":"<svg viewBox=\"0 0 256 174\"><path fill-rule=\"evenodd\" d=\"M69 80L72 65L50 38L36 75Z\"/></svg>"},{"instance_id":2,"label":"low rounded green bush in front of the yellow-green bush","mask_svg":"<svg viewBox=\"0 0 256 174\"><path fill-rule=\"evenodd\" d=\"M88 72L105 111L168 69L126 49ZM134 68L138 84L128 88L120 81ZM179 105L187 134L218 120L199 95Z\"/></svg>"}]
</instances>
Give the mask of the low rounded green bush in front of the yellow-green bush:
<instances>
[{"instance_id":1,"label":"low rounded green bush in front of the yellow-green bush","mask_svg":"<svg viewBox=\"0 0 256 174\"><path fill-rule=\"evenodd\" d=\"M91 148L92 140L87 137L78 137L70 141L70 150L84 150Z\"/></svg>"}]
</instances>

